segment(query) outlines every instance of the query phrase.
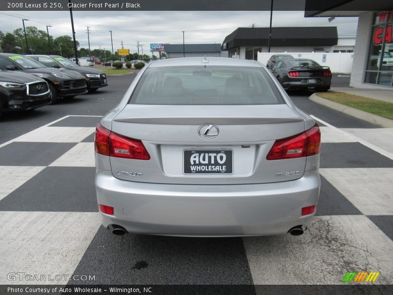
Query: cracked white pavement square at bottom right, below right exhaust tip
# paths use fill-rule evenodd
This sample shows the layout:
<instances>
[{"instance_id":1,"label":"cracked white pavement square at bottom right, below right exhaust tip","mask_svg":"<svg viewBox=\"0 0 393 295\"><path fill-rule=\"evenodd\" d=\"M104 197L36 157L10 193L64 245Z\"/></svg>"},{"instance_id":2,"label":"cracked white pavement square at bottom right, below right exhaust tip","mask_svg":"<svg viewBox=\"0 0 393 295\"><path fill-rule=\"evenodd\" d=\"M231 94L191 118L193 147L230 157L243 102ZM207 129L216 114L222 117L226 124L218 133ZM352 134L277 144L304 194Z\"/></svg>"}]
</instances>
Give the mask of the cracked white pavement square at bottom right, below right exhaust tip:
<instances>
[{"instance_id":1,"label":"cracked white pavement square at bottom right, below right exhaust tip","mask_svg":"<svg viewBox=\"0 0 393 295\"><path fill-rule=\"evenodd\" d=\"M393 283L393 241L364 215L318 216L302 236L243 241L255 285L344 284L347 271L380 271L374 284Z\"/></svg>"}]
</instances>

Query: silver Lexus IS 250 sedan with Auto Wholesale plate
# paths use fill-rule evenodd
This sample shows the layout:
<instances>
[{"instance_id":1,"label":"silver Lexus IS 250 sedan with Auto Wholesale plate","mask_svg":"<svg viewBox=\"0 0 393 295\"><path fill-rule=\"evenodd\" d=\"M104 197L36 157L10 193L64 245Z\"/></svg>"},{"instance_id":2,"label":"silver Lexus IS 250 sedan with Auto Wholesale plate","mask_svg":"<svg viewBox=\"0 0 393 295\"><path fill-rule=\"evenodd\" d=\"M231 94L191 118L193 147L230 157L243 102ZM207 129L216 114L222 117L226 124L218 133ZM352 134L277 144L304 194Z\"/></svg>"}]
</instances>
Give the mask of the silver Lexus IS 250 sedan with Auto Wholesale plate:
<instances>
[{"instance_id":1,"label":"silver Lexus IS 250 sedan with Auto Wholesale plate","mask_svg":"<svg viewBox=\"0 0 393 295\"><path fill-rule=\"evenodd\" d=\"M320 130L259 62L149 63L95 133L104 227L168 236L301 235Z\"/></svg>"}]
</instances>

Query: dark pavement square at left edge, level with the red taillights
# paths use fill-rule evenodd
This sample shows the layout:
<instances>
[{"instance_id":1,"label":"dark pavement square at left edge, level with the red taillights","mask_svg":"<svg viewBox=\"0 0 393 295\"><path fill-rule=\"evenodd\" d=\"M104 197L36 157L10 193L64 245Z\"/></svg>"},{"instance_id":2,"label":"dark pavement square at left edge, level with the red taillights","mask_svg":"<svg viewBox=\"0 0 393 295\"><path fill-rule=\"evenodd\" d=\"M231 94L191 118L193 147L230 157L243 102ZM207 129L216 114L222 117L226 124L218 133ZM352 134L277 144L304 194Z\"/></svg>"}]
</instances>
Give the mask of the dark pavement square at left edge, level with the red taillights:
<instances>
[{"instance_id":1,"label":"dark pavement square at left edge, level with the red taillights","mask_svg":"<svg viewBox=\"0 0 393 295\"><path fill-rule=\"evenodd\" d=\"M48 166L76 143L13 142L0 148L1 166Z\"/></svg>"}]
</instances>

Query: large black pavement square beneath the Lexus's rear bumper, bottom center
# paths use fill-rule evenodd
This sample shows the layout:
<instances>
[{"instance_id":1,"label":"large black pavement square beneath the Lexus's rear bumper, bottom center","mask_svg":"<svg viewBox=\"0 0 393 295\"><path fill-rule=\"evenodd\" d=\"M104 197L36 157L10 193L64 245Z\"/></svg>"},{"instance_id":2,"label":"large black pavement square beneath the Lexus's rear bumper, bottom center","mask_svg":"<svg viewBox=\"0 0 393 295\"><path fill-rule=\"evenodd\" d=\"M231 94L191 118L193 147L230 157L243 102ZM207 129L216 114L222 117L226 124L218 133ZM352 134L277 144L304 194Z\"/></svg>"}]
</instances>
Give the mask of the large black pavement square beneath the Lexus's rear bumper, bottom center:
<instances>
[{"instance_id":1,"label":"large black pavement square beneath the Lexus's rear bumper, bottom center","mask_svg":"<svg viewBox=\"0 0 393 295\"><path fill-rule=\"evenodd\" d=\"M104 227L74 271L85 273L94 284L253 284L240 237L115 236Z\"/></svg>"}]
</instances>

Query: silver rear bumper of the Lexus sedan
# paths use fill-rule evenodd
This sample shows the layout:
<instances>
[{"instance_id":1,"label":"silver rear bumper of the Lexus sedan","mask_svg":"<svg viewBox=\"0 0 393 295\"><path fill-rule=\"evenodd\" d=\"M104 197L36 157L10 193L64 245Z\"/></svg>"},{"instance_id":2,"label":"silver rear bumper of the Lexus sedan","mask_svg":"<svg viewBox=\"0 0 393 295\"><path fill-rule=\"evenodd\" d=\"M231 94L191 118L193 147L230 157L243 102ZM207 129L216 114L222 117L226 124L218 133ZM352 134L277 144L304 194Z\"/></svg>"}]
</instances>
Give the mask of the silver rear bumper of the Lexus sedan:
<instances>
[{"instance_id":1,"label":"silver rear bumper of the Lexus sedan","mask_svg":"<svg viewBox=\"0 0 393 295\"><path fill-rule=\"evenodd\" d=\"M114 207L103 225L130 233L170 236L253 236L311 225L302 207L318 201L318 170L297 180L240 185L155 184L120 180L98 170L98 204Z\"/></svg>"}]
</instances>

